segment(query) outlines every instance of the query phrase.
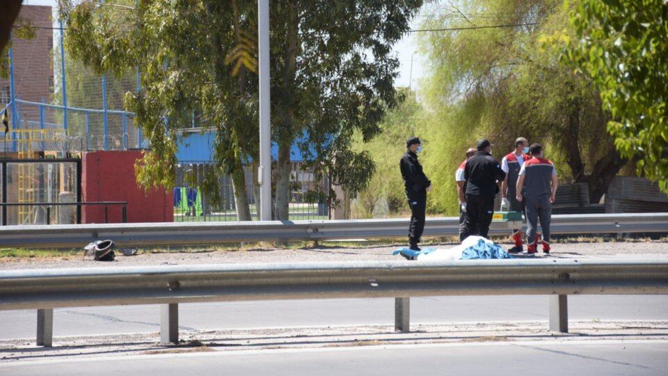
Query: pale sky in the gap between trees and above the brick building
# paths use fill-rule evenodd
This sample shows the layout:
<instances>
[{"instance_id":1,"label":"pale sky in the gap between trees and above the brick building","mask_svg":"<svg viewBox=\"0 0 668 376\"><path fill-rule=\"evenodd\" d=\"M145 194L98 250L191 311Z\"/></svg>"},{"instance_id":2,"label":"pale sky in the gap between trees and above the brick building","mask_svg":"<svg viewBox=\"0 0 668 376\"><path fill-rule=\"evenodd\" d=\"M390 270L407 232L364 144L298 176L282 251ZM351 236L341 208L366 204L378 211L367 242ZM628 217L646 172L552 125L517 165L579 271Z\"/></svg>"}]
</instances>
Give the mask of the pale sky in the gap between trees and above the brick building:
<instances>
[{"instance_id":1,"label":"pale sky in the gap between trees and above the brick building","mask_svg":"<svg viewBox=\"0 0 668 376\"><path fill-rule=\"evenodd\" d=\"M24 5L47 5L56 8L56 0L23 0ZM419 28L419 18L411 23L411 29ZM417 84L424 72L424 58L417 54L417 33L407 33L394 47L394 52L399 58L399 77L395 81L395 86L405 87L411 84L411 87L417 90ZM411 64L411 59L413 63ZM411 67L412 65L412 67ZM412 69L411 69L412 68ZM412 72L412 77L411 77ZM411 79L412 78L412 79Z\"/></svg>"}]
</instances>

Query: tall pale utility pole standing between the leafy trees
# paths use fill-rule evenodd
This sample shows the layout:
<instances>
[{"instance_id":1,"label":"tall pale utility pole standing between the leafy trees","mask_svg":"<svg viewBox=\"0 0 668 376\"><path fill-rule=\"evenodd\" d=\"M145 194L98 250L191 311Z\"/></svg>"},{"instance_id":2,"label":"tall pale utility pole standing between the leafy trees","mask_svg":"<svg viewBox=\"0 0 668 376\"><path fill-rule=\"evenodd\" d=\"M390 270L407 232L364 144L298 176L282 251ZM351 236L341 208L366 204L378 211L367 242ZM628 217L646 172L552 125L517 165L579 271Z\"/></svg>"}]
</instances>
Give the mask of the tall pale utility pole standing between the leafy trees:
<instances>
[{"instance_id":1,"label":"tall pale utility pole standing between the leafy trees","mask_svg":"<svg viewBox=\"0 0 668 376\"><path fill-rule=\"evenodd\" d=\"M269 0L257 0L260 69L260 221L271 221L271 117L269 107Z\"/></svg>"}]
</instances>

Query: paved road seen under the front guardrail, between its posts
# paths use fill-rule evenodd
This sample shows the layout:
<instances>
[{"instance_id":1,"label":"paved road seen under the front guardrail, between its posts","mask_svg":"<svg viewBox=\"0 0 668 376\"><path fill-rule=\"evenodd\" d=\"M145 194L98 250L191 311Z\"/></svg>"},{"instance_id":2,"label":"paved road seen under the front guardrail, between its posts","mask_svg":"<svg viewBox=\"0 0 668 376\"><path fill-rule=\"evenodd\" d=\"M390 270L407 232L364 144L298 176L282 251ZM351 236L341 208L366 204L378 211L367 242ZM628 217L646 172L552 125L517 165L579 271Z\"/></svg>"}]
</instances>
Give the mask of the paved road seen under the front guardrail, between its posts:
<instances>
[{"instance_id":1,"label":"paved road seen under the front guardrail, between its posts","mask_svg":"<svg viewBox=\"0 0 668 376\"><path fill-rule=\"evenodd\" d=\"M668 320L667 295L568 297L573 320ZM393 299L237 301L182 304L187 329L246 329L392 324ZM0 339L35 337L35 311L0 311ZM54 336L143 333L159 330L159 306L63 308L54 313ZM422 297L411 299L412 323L548 320L548 298Z\"/></svg>"}]
</instances>

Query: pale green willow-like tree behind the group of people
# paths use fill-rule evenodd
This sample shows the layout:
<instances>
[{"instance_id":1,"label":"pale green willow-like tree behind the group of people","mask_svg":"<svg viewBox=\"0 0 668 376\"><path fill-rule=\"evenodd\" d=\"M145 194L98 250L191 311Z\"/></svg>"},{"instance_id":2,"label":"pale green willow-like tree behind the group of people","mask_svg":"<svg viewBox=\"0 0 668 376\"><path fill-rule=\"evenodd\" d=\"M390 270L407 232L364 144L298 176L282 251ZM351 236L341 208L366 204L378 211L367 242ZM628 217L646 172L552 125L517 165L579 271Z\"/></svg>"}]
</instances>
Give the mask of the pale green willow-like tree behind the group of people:
<instances>
[{"instance_id":1,"label":"pale green willow-like tree behind the group of people","mask_svg":"<svg viewBox=\"0 0 668 376\"><path fill-rule=\"evenodd\" d=\"M562 180L586 182L590 201L601 199L626 159L601 136L610 113L591 81L561 65L556 49L541 48L541 35L568 26L559 1L470 1L424 26L493 26L423 38L431 73L424 98L433 113L423 130L425 169L445 189L432 192L432 210L456 212L454 171L483 136L498 159L518 136L542 143Z\"/></svg>"}]
</instances>

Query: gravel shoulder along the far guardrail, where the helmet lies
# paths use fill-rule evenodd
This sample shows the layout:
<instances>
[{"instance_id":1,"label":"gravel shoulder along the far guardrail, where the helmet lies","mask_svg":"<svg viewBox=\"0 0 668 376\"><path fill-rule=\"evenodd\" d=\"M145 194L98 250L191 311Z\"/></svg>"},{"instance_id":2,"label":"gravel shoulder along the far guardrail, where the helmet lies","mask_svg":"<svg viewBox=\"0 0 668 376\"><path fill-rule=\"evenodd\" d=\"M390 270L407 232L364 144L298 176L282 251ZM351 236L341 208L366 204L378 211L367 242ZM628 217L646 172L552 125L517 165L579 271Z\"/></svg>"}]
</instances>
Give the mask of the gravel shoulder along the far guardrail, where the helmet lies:
<instances>
[{"instance_id":1,"label":"gravel shoulder along the far guardrail, where the helmet lies","mask_svg":"<svg viewBox=\"0 0 668 376\"><path fill-rule=\"evenodd\" d=\"M453 243L434 243L437 248L452 247ZM225 263L288 263L316 261L361 261L361 260L400 260L392 256L392 251L404 244L378 245L366 242L356 244L328 242L319 246L298 249L273 246L225 249L223 251L206 247L177 251L143 251L136 256L122 256L116 252L113 262L97 262L90 256L79 255L49 257L2 257L0 269L43 269L60 267L118 267L135 265L186 265L186 264L225 264ZM502 246L509 248L510 243ZM521 257L521 256L520 256ZM628 242L559 242L552 244L552 253L537 257L550 258L668 258L668 240L628 241Z\"/></svg>"}]
</instances>

